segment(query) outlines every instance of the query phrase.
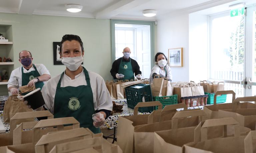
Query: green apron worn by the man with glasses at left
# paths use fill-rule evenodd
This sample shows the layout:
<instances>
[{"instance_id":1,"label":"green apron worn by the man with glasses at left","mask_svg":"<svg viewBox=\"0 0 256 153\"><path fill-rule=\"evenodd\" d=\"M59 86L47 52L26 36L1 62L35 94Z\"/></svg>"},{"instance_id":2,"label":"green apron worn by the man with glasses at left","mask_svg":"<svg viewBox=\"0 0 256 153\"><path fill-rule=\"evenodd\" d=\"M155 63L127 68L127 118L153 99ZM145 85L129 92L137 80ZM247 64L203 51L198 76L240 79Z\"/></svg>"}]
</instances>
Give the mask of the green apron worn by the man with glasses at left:
<instances>
[{"instance_id":1,"label":"green apron worn by the man with glasses at left","mask_svg":"<svg viewBox=\"0 0 256 153\"><path fill-rule=\"evenodd\" d=\"M23 69L21 67L21 74L22 74L22 77L21 77L22 78L22 83L21 83L21 85L22 86L27 85L29 81L31 81L35 77L40 76L40 74L38 73L38 71L36 69L36 66L34 64L33 64L33 67L34 67L35 71L31 71L29 73L23 73ZM42 90L42 88L44 86L44 82L42 82L42 81L36 82L35 85L36 85L36 88L41 88L41 90ZM22 95L25 95L27 93L29 93L29 92L22 93Z\"/></svg>"}]
</instances>

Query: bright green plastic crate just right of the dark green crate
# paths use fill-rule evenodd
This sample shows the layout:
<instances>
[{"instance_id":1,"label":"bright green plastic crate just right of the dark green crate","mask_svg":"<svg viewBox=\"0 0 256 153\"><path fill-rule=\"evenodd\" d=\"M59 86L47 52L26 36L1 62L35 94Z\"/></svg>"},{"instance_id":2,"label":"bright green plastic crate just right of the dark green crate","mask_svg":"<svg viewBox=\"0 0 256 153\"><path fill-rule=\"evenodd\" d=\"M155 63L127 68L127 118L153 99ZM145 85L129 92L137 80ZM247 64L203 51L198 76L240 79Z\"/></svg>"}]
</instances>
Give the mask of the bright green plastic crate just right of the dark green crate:
<instances>
[{"instance_id":1,"label":"bright green plastic crate just right of the dark green crate","mask_svg":"<svg viewBox=\"0 0 256 153\"><path fill-rule=\"evenodd\" d=\"M154 101L160 101L163 105L163 108L166 105L173 105L178 103L178 95L174 94L172 96L153 96ZM158 106L154 106L154 109L157 110Z\"/></svg>"}]
</instances>

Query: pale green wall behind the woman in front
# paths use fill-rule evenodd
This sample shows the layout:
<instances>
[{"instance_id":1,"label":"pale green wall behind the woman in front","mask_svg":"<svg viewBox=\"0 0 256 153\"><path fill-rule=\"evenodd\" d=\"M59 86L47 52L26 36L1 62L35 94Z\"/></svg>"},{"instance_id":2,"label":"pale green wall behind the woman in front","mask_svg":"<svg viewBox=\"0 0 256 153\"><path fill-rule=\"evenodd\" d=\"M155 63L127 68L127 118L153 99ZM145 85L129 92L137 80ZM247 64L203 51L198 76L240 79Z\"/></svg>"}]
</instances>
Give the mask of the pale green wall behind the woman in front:
<instances>
[{"instance_id":1,"label":"pale green wall behind the woman in front","mask_svg":"<svg viewBox=\"0 0 256 153\"><path fill-rule=\"evenodd\" d=\"M112 79L110 20L0 13L0 25L12 25L14 68L21 66L18 53L29 50L33 63L44 64L52 77L62 73L64 66L53 65L52 42L75 34L84 43L84 67L105 80Z\"/></svg>"}]
</instances>

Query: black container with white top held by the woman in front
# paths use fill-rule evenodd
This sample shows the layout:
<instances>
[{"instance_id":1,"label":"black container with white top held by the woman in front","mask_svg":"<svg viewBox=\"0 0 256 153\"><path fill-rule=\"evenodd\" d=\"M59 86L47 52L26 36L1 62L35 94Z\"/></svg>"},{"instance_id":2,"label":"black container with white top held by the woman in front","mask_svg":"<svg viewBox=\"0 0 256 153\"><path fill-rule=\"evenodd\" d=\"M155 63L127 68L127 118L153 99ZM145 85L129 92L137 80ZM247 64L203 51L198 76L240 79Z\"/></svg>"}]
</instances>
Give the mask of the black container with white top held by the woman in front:
<instances>
[{"instance_id":1,"label":"black container with white top held by the woman in front","mask_svg":"<svg viewBox=\"0 0 256 153\"><path fill-rule=\"evenodd\" d=\"M24 95L23 98L28 101L28 105L30 105L32 109L39 108L45 104L40 88L29 92L28 94Z\"/></svg>"}]
</instances>

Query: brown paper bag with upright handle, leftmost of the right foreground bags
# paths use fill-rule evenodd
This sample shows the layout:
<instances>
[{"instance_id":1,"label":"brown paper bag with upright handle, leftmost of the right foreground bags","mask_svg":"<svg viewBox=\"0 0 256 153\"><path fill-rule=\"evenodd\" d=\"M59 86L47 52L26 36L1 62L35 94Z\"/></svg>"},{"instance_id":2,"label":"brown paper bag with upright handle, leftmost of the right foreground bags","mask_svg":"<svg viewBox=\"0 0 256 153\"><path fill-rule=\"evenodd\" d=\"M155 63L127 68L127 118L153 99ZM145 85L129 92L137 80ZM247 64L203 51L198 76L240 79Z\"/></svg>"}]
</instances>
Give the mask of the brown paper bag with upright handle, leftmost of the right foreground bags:
<instances>
[{"instance_id":1,"label":"brown paper bag with upright handle, leftmost of the right foreground bags","mask_svg":"<svg viewBox=\"0 0 256 153\"><path fill-rule=\"evenodd\" d=\"M138 115L139 107L158 106L162 109L162 104L159 101L139 102L134 107L133 116L119 116L117 130L117 144L123 150L123 153L132 153L134 150L134 129L137 125L148 123L149 114Z\"/></svg>"}]
</instances>

